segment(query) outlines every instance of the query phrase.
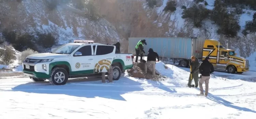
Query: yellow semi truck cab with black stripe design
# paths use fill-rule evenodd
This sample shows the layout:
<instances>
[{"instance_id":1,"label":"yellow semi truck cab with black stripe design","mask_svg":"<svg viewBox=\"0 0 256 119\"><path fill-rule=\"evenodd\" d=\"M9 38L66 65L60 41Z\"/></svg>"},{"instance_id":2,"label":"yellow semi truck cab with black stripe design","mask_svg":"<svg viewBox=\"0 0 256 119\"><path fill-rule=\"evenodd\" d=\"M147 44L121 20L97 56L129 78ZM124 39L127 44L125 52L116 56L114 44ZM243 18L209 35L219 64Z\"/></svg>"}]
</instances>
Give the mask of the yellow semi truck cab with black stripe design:
<instances>
[{"instance_id":1,"label":"yellow semi truck cab with black stripe design","mask_svg":"<svg viewBox=\"0 0 256 119\"><path fill-rule=\"evenodd\" d=\"M228 71L228 73L243 73L249 70L249 61L236 56L234 50L226 49L217 40L207 39L204 41L203 58L209 56L214 69Z\"/></svg>"}]
</instances>

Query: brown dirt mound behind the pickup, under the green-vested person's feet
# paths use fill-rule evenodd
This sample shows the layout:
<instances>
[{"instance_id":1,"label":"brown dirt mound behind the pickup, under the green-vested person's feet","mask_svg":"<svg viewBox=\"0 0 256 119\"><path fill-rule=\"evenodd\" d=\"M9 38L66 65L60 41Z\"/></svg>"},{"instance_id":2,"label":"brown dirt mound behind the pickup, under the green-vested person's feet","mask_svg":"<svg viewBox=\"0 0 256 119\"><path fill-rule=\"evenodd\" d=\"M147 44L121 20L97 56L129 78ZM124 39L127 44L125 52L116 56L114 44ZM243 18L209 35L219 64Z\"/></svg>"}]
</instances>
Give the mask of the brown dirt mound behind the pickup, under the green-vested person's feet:
<instances>
[{"instance_id":1,"label":"brown dirt mound behind the pickup, under the green-vested person's feet","mask_svg":"<svg viewBox=\"0 0 256 119\"><path fill-rule=\"evenodd\" d=\"M165 80L167 77L162 76L157 70L156 70L156 75L153 77L152 75L152 66L147 67L147 73L145 72L145 63L134 63L134 66L132 69L127 71L130 77L134 78L140 78L140 79L151 79L154 81L160 81L160 80Z\"/></svg>"}]
</instances>

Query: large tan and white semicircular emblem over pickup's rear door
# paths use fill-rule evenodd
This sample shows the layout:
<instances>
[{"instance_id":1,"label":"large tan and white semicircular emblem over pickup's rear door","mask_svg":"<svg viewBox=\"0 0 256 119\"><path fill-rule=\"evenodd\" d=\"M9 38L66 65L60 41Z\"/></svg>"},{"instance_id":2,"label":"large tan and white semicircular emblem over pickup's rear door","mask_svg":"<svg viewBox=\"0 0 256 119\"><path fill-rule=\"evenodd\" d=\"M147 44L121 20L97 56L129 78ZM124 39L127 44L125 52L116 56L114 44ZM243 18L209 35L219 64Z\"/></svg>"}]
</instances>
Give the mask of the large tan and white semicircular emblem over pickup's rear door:
<instances>
[{"instance_id":1,"label":"large tan and white semicircular emblem over pickup's rear door","mask_svg":"<svg viewBox=\"0 0 256 119\"><path fill-rule=\"evenodd\" d=\"M109 60L100 60L94 66L94 72L108 72L111 62Z\"/></svg>"}]
</instances>

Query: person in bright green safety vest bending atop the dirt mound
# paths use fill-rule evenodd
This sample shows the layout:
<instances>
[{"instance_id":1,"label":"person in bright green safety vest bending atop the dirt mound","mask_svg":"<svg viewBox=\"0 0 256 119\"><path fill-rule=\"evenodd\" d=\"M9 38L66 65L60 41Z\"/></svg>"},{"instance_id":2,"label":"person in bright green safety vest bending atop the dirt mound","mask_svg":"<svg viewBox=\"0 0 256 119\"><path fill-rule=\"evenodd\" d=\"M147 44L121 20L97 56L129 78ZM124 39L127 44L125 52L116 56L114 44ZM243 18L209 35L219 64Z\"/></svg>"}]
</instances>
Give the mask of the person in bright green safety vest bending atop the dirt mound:
<instances>
[{"instance_id":1,"label":"person in bright green safety vest bending atop the dirt mound","mask_svg":"<svg viewBox=\"0 0 256 119\"><path fill-rule=\"evenodd\" d=\"M136 51L136 60L135 60L135 62L138 62L138 57L139 57L139 55L140 55L140 59L142 60L143 53L145 53L145 51L143 50L144 44L147 45L145 39L140 40L140 41L137 43L137 45L135 46L135 51ZM143 53L142 53L142 52L143 52ZM141 60L140 60L140 61L141 61Z\"/></svg>"}]
</instances>

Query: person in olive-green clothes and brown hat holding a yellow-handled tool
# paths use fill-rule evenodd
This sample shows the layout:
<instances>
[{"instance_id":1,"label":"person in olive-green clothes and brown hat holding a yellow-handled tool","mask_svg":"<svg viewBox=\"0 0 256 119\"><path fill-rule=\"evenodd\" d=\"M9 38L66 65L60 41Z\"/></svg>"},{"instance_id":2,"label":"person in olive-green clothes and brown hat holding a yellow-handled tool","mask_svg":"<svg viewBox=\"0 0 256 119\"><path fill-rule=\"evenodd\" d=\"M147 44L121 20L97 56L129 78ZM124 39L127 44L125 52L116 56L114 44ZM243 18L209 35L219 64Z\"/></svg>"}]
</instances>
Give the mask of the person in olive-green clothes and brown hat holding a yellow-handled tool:
<instances>
[{"instance_id":1,"label":"person in olive-green clothes and brown hat holding a yellow-handled tool","mask_svg":"<svg viewBox=\"0 0 256 119\"><path fill-rule=\"evenodd\" d=\"M188 87L191 87L191 81L194 79L195 81L195 87L198 87L198 72L199 72L199 62L198 62L198 58L196 58L195 56L191 56L191 61L189 61L189 66L191 66L191 72L189 75L189 79L188 79ZM191 75L192 75L192 80L191 80Z\"/></svg>"}]
</instances>

